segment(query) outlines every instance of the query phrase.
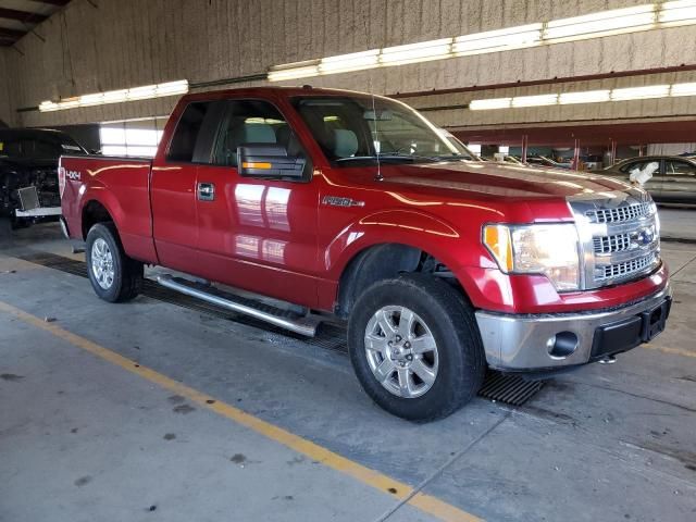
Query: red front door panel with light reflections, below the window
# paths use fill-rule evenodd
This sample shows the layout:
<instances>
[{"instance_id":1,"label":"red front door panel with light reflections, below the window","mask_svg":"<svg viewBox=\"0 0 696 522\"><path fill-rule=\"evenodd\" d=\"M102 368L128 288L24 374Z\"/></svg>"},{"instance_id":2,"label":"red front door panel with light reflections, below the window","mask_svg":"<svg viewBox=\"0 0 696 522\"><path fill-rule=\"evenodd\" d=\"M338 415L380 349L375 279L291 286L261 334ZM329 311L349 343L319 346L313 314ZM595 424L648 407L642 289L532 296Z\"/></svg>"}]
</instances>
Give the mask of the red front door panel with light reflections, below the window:
<instances>
[{"instance_id":1,"label":"red front door panel with light reflections, below the window","mask_svg":"<svg viewBox=\"0 0 696 522\"><path fill-rule=\"evenodd\" d=\"M198 201L198 275L307 307L316 306L313 183L244 178L233 166L198 167L214 185Z\"/></svg>"}]
</instances>

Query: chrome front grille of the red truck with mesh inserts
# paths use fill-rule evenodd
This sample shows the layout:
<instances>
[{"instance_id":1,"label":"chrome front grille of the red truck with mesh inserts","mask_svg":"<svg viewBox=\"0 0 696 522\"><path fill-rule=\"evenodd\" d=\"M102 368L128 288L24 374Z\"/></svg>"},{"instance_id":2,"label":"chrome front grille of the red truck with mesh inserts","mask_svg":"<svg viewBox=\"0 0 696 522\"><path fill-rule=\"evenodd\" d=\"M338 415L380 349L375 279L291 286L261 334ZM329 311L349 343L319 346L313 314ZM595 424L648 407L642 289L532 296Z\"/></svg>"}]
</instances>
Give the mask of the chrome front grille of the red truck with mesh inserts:
<instances>
[{"instance_id":1,"label":"chrome front grille of the red truck with mesh inserts","mask_svg":"<svg viewBox=\"0 0 696 522\"><path fill-rule=\"evenodd\" d=\"M638 278L660 263L655 203L637 189L613 196L570 200L581 240L581 286L585 289Z\"/></svg>"}]
</instances>

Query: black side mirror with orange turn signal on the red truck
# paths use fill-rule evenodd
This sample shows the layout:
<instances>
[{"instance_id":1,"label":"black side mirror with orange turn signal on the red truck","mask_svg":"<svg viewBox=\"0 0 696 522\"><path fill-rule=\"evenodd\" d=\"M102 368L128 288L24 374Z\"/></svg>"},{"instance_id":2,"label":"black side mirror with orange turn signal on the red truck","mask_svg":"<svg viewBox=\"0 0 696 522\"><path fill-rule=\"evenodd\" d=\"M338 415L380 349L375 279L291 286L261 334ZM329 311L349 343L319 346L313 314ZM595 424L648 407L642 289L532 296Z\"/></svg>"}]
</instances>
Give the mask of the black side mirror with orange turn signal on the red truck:
<instances>
[{"instance_id":1,"label":"black side mirror with orange turn signal on the red truck","mask_svg":"<svg viewBox=\"0 0 696 522\"><path fill-rule=\"evenodd\" d=\"M240 176L301 178L306 164L306 158L291 157L277 144L246 144L237 149Z\"/></svg>"}]
</instances>

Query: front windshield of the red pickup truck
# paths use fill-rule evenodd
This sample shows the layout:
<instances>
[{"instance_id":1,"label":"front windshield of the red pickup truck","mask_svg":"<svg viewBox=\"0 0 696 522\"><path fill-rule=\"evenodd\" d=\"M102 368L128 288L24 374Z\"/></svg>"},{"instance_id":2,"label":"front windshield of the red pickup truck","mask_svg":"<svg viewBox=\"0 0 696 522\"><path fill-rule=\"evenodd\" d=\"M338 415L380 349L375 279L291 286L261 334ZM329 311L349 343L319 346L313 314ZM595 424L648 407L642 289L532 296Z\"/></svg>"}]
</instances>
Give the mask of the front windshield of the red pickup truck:
<instances>
[{"instance_id":1,"label":"front windshield of the red pickup truck","mask_svg":"<svg viewBox=\"0 0 696 522\"><path fill-rule=\"evenodd\" d=\"M413 109L371 97L300 97L293 104L326 158L336 165L471 160Z\"/></svg>"}]
</instances>

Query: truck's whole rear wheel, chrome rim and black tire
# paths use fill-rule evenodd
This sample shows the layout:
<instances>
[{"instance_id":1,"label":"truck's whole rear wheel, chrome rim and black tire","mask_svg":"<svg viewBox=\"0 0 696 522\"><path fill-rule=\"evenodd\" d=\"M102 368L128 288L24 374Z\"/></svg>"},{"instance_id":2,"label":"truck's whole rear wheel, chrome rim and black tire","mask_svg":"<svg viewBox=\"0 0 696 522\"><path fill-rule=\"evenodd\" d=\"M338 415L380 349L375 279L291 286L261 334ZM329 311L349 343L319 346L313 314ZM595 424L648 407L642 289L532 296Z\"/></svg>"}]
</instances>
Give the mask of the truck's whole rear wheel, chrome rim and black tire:
<instances>
[{"instance_id":1,"label":"truck's whole rear wheel, chrome rim and black tire","mask_svg":"<svg viewBox=\"0 0 696 522\"><path fill-rule=\"evenodd\" d=\"M109 302L135 298L142 288L142 263L128 258L113 223L97 223L87 234L87 272L95 293Z\"/></svg>"}]
</instances>

